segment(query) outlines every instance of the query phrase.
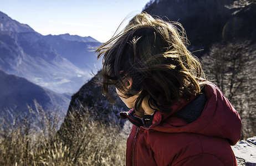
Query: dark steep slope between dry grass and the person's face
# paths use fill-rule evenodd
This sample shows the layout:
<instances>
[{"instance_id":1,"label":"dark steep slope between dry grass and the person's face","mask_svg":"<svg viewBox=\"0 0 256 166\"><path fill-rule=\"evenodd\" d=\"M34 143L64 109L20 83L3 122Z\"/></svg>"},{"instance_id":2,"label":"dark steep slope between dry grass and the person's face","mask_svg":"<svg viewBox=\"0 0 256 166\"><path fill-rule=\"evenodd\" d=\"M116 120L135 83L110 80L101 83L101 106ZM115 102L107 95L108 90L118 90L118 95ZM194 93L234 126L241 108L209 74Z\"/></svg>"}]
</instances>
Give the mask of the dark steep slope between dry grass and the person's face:
<instances>
[{"instance_id":1,"label":"dark steep slope between dry grass and the person's face","mask_svg":"<svg viewBox=\"0 0 256 166\"><path fill-rule=\"evenodd\" d=\"M71 141L70 135L73 134L74 127L76 127L75 124L79 124L81 121L80 116L84 115L86 109L89 109L90 114L96 117L96 120L106 123L116 123L116 125L125 128L125 131L130 131L131 125L125 123L126 121L121 120L119 116L119 112L128 111L129 108L127 108L120 97L116 95L114 87L110 87L110 94L115 101L115 105L112 105L112 103L107 100L107 97L102 95L101 85L98 84L98 74L71 97L68 112L58 131L58 134L64 141ZM77 116L79 117L74 118Z\"/></svg>"}]
</instances>

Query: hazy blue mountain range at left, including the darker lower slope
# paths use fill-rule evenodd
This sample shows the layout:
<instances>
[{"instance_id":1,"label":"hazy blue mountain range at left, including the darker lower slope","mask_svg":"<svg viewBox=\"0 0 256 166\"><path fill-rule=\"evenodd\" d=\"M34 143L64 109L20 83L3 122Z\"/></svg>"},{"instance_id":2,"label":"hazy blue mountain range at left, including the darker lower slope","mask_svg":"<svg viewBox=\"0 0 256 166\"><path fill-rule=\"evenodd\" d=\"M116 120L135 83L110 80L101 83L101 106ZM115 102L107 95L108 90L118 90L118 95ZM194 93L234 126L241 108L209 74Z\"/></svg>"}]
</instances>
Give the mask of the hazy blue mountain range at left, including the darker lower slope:
<instances>
[{"instance_id":1,"label":"hazy blue mountain range at left, including the darker lower slope","mask_svg":"<svg viewBox=\"0 0 256 166\"><path fill-rule=\"evenodd\" d=\"M94 64L101 62L89 48L100 42L69 34L54 37L57 39L49 42L29 25L0 12L1 109L25 110L35 99L45 108L61 107L66 112L71 94L93 77L91 71L98 71ZM54 42L66 45L56 48ZM83 59L79 61L79 57Z\"/></svg>"}]
</instances>

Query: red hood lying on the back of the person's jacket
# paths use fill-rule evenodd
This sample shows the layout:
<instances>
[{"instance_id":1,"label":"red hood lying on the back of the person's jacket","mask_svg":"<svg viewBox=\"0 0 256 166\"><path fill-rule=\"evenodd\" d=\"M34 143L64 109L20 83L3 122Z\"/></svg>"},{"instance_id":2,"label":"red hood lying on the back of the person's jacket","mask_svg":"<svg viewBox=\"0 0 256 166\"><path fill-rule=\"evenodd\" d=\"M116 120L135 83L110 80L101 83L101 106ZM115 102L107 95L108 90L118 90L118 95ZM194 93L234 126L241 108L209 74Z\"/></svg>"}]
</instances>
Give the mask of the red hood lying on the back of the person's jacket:
<instances>
[{"instance_id":1,"label":"red hood lying on the back of the person's jacket","mask_svg":"<svg viewBox=\"0 0 256 166\"><path fill-rule=\"evenodd\" d=\"M206 104L201 115L195 121L189 123L175 116L175 113L195 100L194 97L190 101L182 101L180 105L173 105L170 113L156 111L151 125L148 127L142 125L142 127L167 133L187 132L220 137L228 139L229 143L234 145L240 139L242 128L238 112L216 85L206 84L203 90L206 96ZM130 110L129 112L134 111ZM126 112L126 115L120 113L120 116L129 118L129 112Z\"/></svg>"}]
</instances>

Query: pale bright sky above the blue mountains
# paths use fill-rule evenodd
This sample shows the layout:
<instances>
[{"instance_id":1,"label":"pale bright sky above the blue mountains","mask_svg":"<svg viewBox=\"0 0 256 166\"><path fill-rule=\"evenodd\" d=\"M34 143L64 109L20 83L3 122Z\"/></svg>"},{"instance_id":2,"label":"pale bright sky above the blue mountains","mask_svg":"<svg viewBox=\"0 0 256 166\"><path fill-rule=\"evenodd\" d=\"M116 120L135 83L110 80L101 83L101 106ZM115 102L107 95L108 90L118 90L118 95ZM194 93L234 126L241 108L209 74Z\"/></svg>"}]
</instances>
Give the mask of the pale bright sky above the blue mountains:
<instances>
[{"instance_id":1,"label":"pale bright sky above the blue mountains","mask_svg":"<svg viewBox=\"0 0 256 166\"><path fill-rule=\"evenodd\" d=\"M69 33L107 42L150 0L0 0L0 11L42 35Z\"/></svg>"}]
</instances>

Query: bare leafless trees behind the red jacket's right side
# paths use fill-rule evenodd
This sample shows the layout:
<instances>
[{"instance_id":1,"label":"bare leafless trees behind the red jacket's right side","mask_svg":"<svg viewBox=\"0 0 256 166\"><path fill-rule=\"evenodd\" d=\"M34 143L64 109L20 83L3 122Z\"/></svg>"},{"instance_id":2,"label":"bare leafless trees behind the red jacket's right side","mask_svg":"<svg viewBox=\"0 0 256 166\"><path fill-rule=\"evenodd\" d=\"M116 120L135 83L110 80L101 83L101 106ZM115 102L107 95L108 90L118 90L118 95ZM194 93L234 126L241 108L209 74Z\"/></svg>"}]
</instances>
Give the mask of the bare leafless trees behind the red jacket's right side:
<instances>
[{"instance_id":1,"label":"bare leafless trees behind the red jacket's right side","mask_svg":"<svg viewBox=\"0 0 256 166\"><path fill-rule=\"evenodd\" d=\"M242 139L256 135L256 51L248 40L214 44L202 57L208 79L222 90L238 110Z\"/></svg>"}]
</instances>

